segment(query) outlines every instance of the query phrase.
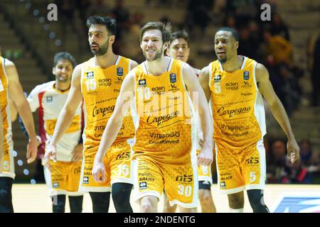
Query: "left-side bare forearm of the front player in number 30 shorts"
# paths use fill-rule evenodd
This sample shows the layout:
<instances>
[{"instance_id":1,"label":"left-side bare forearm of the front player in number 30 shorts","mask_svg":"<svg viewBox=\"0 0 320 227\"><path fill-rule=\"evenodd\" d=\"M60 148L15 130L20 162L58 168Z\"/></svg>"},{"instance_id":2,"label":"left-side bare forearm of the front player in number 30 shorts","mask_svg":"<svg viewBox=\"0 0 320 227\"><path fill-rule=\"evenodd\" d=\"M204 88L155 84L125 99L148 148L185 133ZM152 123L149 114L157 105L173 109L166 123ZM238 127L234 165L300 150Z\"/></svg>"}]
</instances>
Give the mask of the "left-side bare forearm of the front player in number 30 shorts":
<instances>
[{"instance_id":1,"label":"left-side bare forearm of the front player in number 30 shorts","mask_svg":"<svg viewBox=\"0 0 320 227\"><path fill-rule=\"evenodd\" d=\"M112 116L109 119L107 126L105 127L105 131L103 132L97 155L95 157L97 160L103 160L103 157L105 157L107 150L110 148L115 138L117 138L117 135L122 126L122 120L119 121L117 119L114 119Z\"/></svg>"}]
</instances>

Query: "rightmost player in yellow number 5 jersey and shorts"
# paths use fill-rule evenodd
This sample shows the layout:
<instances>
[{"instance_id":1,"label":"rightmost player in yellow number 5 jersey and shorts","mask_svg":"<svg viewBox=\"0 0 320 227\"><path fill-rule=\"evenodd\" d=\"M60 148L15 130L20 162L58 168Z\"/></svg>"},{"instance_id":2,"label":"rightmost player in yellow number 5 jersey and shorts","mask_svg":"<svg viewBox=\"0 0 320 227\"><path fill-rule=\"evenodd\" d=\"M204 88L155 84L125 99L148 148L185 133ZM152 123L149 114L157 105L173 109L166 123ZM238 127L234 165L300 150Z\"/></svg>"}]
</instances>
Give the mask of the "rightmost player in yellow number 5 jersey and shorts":
<instances>
[{"instance_id":1,"label":"rightmost player in yellow number 5 jersey and shorts","mask_svg":"<svg viewBox=\"0 0 320 227\"><path fill-rule=\"evenodd\" d=\"M228 194L231 212L241 213L247 190L253 212L269 212L263 200L266 133L263 98L288 138L291 162L299 159L299 146L288 116L274 93L265 66L238 56L238 33L220 28L215 33L218 60L201 70L206 98L212 101L213 129L220 192Z\"/></svg>"}]
</instances>

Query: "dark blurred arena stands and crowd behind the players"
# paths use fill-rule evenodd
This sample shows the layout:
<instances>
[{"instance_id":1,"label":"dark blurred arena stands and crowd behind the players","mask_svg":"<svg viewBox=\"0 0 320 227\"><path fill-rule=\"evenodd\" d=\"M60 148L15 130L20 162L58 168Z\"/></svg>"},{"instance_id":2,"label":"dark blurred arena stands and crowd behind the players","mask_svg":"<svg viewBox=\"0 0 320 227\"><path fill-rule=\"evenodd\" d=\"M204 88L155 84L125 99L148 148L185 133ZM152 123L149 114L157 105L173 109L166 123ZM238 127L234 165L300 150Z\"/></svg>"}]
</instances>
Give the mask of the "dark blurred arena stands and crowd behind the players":
<instances>
[{"instance_id":1,"label":"dark blurred arena stands and crowd behind the players","mask_svg":"<svg viewBox=\"0 0 320 227\"><path fill-rule=\"evenodd\" d=\"M58 21L48 21L52 3L58 6ZM260 18L262 4L271 6L270 21ZM320 184L319 0L1 0L1 52L16 63L26 92L53 79L55 52L68 51L78 63L92 57L85 26L92 15L117 19L114 52L139 63L144 60L139 48L144 23L169 21L173 31L186 29L191 40L188 62L200 69L216 59L215 31L235 28L240 35L238 53L269 70L301 149L301 160L290 164L286 137L266 105L267 182ZM38 127L37 114L34 117ZM41 160L26 164L27 142L17 121L13 133L16 182L44 182ZM216 182L215 171L213 178Z\"/></svg>"}]
</instances>

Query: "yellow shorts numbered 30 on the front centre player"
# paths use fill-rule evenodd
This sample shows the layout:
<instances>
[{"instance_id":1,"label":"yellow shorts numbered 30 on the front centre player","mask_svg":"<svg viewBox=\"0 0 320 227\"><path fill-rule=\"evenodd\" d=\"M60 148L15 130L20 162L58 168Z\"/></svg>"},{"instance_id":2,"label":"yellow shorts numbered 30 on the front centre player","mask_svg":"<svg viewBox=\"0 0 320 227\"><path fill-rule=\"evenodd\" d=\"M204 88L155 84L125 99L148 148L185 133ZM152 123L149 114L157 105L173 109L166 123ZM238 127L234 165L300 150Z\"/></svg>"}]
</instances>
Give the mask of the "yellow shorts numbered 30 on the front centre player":
<instances>
[{"instance_id":1,"label":"yellow shorts numbered 30 on the front centre player","mask_svg":"<svg viewBox=\"0 0 320 227\"><path fill-rule=\"evenodd\" d=\"M134 195L136 202L144 196L159 200L165 191L170 206L198 206L198 175L196 165L164 165L139 156L134 162Z\"/></svg>"}]
</instances>

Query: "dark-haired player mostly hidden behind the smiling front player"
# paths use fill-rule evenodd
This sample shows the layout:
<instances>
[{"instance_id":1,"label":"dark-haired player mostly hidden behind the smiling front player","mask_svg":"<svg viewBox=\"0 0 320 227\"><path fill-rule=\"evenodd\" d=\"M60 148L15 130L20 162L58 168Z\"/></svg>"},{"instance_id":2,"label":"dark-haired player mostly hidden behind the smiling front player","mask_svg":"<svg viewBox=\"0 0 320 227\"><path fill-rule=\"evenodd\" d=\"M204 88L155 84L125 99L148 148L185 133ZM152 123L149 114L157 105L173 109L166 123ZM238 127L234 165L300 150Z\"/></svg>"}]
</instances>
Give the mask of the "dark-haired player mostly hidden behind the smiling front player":
<instances>
[{"instance_id":1,"label":"dark-haired player mostly hidden behind the smiling front player","mask_svg":"<svg viewBox=\"0 0 320 227\"><path fill-rule=\"evenodd\" d=\"M186 31L176 31L171 34L170 45L166 51L166 54L174 59L181 60L183 62L188 61L190 55L189 48L189 36ZM197 77L200 70L193 68ZM198 140L201 140L201 130L198 131ZM200 148L197 148L197 153L200 152ZM211 195L211 166L201 165L198 167L198 182L199 182L199 200L201 204L201 211L203 213L215 213L215 204ZM164 193L164 213L172 213L176 211L176 206L170 206L168 197Z\"/></svg>"}]
</instances>

